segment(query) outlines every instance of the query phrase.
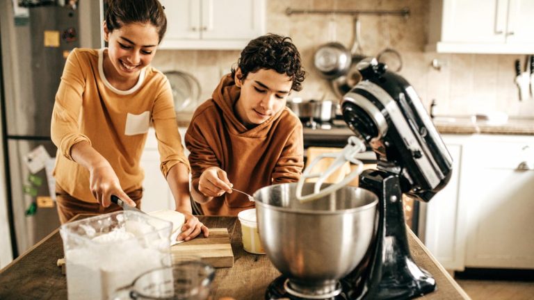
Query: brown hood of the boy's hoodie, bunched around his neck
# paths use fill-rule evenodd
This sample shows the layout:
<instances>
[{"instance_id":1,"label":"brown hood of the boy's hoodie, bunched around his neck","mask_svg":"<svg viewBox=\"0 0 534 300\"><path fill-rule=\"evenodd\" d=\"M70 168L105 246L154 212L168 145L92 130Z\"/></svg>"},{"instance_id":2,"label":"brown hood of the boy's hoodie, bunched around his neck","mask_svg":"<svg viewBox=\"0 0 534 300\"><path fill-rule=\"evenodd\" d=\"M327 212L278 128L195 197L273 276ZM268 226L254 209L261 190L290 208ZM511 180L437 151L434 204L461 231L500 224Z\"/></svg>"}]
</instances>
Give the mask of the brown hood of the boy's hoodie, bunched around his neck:
<instances>
[{"instance_id":1,"label":"brown hood of the boy's hoodie, bunched around his neck","mask_svg":"<svg viewBox=\"0 0 534 300\"><path fill-rule=\"evenodd\" d=\"M247 128L245 124L241 123L236 116L234 106L236 101L238 101L239 96L241 95L241 88L236 86L234 77L232 74L225 75L221 80L217 88L213 91L212 98L216 106L223 111L224 122L229 128L230 133L235 135L247 136L248 138L261 138L264 137L270 128L270 126L275 122L284 109L280 110L278 113L267 119L266 122L263 122L254 128Z\"/></svg>"}]
</instances>

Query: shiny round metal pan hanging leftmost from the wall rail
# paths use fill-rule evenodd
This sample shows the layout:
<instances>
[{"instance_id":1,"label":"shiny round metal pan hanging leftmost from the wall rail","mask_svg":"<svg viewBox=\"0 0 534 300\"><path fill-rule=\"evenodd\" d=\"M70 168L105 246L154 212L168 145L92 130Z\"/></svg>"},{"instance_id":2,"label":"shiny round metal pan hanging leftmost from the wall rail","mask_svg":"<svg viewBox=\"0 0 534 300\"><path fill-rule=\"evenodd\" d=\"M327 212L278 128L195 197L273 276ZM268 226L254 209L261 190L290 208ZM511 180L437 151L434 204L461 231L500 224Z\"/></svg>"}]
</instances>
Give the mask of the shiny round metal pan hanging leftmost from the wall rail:
<instances>
[{"instance_id":1,"label":"shiny round metal pan hanging leftmost from the wall rail","mask_svg":"<svg viewBox=\"0 0 534 300\"><path fill-rule=\"evenodd\" d=\"M319 74L326 79L343 76L350 67L350 51L343 44L336 42L336 23L334 16L328 24L330 42L317 48L314 55L314 66Z\"/></svg>"}]
</instances>

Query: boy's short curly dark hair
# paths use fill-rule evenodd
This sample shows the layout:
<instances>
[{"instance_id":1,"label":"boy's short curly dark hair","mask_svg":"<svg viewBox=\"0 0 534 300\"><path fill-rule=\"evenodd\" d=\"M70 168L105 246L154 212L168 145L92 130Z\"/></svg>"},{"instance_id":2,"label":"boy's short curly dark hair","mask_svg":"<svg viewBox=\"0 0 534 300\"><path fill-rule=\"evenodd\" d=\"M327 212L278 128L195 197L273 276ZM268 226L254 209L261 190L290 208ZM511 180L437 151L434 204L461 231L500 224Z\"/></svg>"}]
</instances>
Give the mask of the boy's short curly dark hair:
<instances>
[{"instance_id":1,"label":"boy's short curly dark hair","mask_svg":"<svg viewBox=\"0 0 534 300\"><path fill-rule=\"evenodd\" d=\"M279 74L286 74L293 81L291 90L302 90L302 81L306 73L302 69L300 53L291 38L282 37L273 33L262 35L251 40L247 47L241 51L237 60L241 69L241 80L247 78L252 72L259 69L273 69ZM232 68L232 77L236 76L236 69Z\"/></svg>"}]
</instances>

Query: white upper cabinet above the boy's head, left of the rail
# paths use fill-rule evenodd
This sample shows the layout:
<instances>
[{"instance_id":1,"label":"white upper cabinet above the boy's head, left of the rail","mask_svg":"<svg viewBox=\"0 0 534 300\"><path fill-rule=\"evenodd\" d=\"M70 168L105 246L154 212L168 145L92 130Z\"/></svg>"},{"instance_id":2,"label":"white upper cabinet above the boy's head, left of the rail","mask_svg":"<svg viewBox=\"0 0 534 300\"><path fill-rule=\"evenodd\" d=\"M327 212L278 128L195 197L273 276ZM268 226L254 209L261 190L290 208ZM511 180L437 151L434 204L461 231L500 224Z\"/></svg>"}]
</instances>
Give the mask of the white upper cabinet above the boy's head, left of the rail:
<instances>
[{"instance_id":1,"label":"white upper cabinet above the boy's head, left of the rail","mask_svg":"<svg viewBox=\"0 0 534 300\"><path fill-rule=\"evenodd\" d=\"M265 33L265 0L161 0L160 49L243 49Z\"/></svg>"}]
</instances>

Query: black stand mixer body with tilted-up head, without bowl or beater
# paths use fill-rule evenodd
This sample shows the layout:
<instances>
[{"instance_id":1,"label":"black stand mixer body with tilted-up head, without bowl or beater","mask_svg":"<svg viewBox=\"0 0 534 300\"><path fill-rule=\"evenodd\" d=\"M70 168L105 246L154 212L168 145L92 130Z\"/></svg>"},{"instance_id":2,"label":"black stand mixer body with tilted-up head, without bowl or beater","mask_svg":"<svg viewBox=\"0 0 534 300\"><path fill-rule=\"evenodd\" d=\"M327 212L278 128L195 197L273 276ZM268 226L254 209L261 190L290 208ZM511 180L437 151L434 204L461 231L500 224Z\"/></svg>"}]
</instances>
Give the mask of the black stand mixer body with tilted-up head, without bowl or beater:
<instances>
[{"instance_id":1,"label":"black stand mixer body with tilted-up head, without bowl or beater","mask_svg":"<svg viewBox=\"0 0 534 300\"><path fill-rule=\"evenodd\" d=\"M401 76L374 58L358 64L363 81L341 103L343 118L378 158L359 187L380 199L375 242L343 279L348 299L411 299L435 290L434 278L410 255L402 195L429 201L451 177L452 158L419 97Z\"/></svg>"}]
</instances>

